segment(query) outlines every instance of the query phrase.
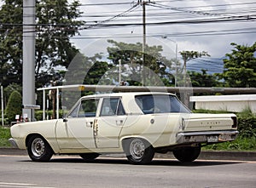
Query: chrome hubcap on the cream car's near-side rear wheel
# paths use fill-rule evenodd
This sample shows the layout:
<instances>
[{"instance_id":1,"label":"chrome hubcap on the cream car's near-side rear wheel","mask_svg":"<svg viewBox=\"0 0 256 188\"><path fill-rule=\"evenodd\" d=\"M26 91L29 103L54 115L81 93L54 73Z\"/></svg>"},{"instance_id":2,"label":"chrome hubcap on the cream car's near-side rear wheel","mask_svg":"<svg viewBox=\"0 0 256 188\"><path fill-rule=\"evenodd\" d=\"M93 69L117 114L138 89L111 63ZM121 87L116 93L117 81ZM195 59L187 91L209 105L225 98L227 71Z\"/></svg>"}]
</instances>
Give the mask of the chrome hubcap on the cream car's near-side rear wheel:
<instances>
[{"instance_id":1,"label":"chrome hubcap on the cream car's near-side rear wheel","mask_svg":"<svg viewBox=\"0 0 256 188\"><path fill-rule=\"evenodd\" d=\"M130 145L131 157L135 159L140 159L141 157L143 157L144 152L145 152L145 145L142 140L135 139L131 141L131 145Z\"/></svg>"}]
</instances>

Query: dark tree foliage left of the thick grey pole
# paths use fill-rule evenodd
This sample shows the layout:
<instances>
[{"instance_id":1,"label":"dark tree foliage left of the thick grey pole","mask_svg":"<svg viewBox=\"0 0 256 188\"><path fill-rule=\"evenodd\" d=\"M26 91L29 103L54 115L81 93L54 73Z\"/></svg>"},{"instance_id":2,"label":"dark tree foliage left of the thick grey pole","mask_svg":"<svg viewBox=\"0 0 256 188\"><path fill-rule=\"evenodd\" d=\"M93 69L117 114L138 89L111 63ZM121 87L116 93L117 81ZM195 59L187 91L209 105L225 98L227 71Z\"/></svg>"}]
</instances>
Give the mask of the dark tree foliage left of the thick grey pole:
<instances>
[{"instance_id":1,"label":"dark tree foliage left of the thick grey pole","mask_svg":"<svg viewBox=\"0 0 256 188\"><path fill-rule=\"evenodd\" d=\"M0 9L0 83L21 83L22 0L6 0Z\"/></svg>"}]
</instances>

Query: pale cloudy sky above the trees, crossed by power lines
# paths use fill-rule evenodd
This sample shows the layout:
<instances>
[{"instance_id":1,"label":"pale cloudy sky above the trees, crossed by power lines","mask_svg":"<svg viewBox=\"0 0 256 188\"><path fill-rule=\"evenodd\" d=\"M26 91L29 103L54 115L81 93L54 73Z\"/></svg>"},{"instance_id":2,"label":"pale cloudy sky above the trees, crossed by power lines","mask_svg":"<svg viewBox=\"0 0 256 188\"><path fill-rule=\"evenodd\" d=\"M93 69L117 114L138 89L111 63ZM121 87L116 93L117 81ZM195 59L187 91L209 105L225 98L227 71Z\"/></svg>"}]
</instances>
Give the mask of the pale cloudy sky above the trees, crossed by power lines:
<instances>
[{"instance_id":1,"label":"pale cloudy sky above the trees, crossed by power lines","mask_svg":"<svg viewBox=\"0 0 256 188\"><path fill-rule=\"evenodd\" d=\"M170 58L176 56L176 48L177 52L207 51L211 57L199 64L202 67L211 64L212 69L218 69L219 60L231 53L230 43L250 46L256 42L255 0L144 2L147 3L146 43L164 46L163 54ZM80 0L80 3L84 12L80 20L86 21L86 26L72 41L85 54L104 53L109 46L107 39L143 43L143 6L137 0ZM180 58L178 53L177 57ZM196 65L195 69L201 67Z\"/></svg>"}]
</instances>

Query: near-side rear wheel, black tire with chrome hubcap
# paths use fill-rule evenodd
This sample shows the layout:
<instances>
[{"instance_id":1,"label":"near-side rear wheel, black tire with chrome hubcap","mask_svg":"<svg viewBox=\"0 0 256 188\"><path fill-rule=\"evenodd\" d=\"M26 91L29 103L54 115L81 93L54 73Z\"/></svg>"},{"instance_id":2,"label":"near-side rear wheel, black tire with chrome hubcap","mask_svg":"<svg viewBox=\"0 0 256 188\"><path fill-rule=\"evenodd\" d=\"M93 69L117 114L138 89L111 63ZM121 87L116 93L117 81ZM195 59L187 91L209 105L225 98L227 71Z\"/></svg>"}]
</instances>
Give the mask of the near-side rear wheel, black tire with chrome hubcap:
<instances>
[{"instance_id":1,"label":"near-side rear wheel, black tire with chrome hubcap","mask_svg":"<svg viewBox=\"0 0 256 188\"><path fill-rule=\"evenodd\" d=\"M154 157L154 148L148 141L138 138L124 140L124 151L131 164L147 164Z\"/></svg>"}]
</instances>

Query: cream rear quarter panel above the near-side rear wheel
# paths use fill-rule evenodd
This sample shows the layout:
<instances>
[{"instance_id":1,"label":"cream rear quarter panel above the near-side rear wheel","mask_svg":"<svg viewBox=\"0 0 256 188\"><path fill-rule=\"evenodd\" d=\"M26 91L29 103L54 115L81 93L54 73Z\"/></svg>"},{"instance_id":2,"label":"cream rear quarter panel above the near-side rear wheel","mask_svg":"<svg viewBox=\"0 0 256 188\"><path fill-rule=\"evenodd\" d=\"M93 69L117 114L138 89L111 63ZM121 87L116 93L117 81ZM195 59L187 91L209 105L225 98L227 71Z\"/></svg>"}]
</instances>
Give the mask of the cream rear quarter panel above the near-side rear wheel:
<instances>
[{"instance_id":1,"label":"cream rear quarter panel above the near-side rear wheel","mask_svg":"<svg viewBox=\"0 0 256 188\"><path fill-rule=\"evenodd\" d=\"M121 140L138 137L154 147L172 145L176 141L180 118L178 114L151 114L129 116L121 131Z\"/></svg>"}]
</instances>

